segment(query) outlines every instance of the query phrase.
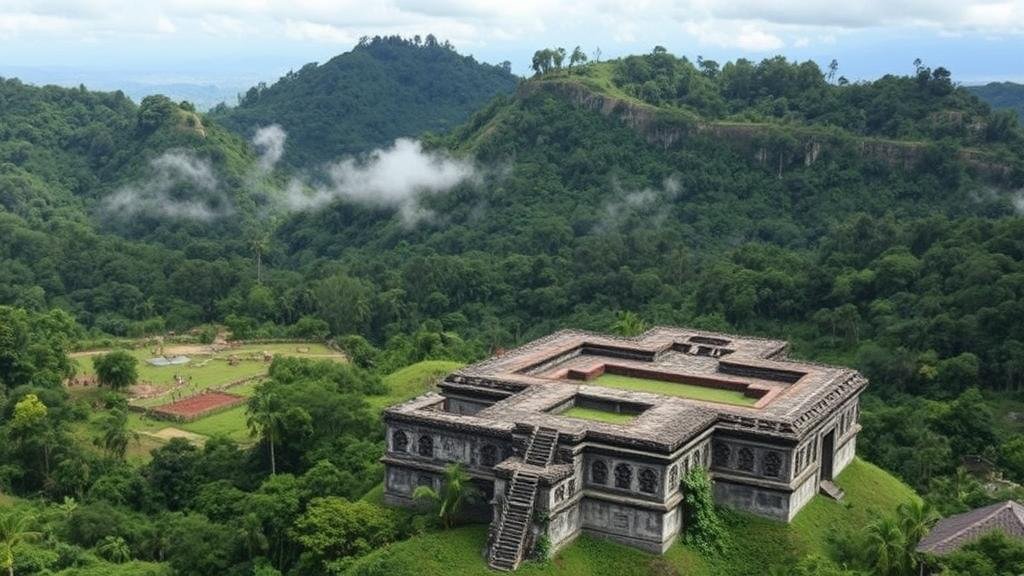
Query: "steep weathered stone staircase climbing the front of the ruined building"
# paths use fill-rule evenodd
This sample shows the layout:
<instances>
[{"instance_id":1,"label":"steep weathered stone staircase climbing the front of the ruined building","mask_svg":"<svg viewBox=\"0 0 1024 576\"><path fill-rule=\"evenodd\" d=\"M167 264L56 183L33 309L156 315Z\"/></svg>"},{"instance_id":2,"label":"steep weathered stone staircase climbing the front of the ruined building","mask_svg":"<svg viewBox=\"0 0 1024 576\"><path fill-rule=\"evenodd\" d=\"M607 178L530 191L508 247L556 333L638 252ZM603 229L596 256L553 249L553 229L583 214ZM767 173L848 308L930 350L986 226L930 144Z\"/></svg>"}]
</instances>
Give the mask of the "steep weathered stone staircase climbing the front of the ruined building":
<instances>
[{"instance_id":1,"label":"steep weathered stone staircase climbing the front of the ruined building","mask_svg":"<svg viewBox=\"0 0 1024 576\"><path fill-rule=\"evenodd\" d=\"M557 445L558 430L536 428L530 435L523 461L535 466L547 466L554 457ZM498 530L487 558L490 568L510 571L518 568L522 562L539 482L540 478L536 474L525 470L516 470L512 475L501 517L496 519Z\"/></svg>"}]
</instances>

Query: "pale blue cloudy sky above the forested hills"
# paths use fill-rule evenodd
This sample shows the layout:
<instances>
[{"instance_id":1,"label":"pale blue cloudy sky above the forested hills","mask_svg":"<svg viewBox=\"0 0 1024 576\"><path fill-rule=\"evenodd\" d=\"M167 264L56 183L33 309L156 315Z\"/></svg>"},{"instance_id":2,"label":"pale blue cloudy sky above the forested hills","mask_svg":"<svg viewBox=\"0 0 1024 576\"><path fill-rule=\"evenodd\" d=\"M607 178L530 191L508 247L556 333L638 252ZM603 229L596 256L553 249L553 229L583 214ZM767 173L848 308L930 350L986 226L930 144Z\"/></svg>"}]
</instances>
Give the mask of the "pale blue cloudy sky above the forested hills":
<instances>
[{"instance_id":1,"label":"pale blue cloudy sky above the forested hills","mask_svg":"<svg viewBox=\"0 0 1024 576\"><path fill-rule=\"evenodd\" d=\"M0 75L248 85L364 35L427 33L520 74L543 46L611 57L660 44L720 60L835 57L850 79L920 56L965 83L1024 81L1024 0L0 0Z\"/></svg>"}]
</instances>

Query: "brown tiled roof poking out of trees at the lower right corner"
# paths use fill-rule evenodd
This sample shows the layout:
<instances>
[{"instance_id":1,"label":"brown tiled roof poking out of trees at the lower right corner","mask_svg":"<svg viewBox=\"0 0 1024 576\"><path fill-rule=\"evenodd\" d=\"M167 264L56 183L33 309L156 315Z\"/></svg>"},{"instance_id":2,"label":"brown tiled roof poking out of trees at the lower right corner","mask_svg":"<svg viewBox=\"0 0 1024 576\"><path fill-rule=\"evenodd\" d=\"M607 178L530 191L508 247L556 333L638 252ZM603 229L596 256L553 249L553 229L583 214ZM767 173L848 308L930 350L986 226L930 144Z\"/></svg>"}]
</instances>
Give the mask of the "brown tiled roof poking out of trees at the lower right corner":
<instances>
[{"instance_id":1,"label":"brown tiled roof poking out of trees at the lower right corner","mask_svg":"<svg viewBox=\"0 0 1024 576\"><path fill-rule=\"evenodd\" d=\"M921 540L918 551L947 554L995 530L1024 538L1024 506L1008 500L943 519Z\"/></svg>"}]
</instances>

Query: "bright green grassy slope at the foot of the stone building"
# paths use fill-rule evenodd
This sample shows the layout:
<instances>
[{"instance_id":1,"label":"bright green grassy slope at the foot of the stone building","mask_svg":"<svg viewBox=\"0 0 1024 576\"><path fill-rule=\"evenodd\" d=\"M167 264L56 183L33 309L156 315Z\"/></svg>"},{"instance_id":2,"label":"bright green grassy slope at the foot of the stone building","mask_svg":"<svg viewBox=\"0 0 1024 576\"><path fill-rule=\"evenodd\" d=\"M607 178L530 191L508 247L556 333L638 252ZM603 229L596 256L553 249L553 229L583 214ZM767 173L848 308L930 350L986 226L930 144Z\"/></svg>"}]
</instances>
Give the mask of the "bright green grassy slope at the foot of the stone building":
<instances>
[{"instance_id":1,"label":"bright green grassy slope at the foot of the stone building","mask_svg":"<svg viewBox=\"0 0 1024 576\"><path fill-rule=\"evenodd\" d=\"M765 573L766 557L786 564L807 553L824 553L828 533L837 527L856 529L880 512L891 512L916 498L913 491L881 468L855 460L837 483L846 490L844 502L821 496L808 504L790 525L748 515L725 515L729 533L727 550L705 558L683 544L664 557L582 536L546 563L527 563L524 576L573 574L589 576L711 576ZM467 526L433 532L377 550L359 560L348 576L470 576L492 574L483 549L485 526Z\"/></svg>"}]
</instances>

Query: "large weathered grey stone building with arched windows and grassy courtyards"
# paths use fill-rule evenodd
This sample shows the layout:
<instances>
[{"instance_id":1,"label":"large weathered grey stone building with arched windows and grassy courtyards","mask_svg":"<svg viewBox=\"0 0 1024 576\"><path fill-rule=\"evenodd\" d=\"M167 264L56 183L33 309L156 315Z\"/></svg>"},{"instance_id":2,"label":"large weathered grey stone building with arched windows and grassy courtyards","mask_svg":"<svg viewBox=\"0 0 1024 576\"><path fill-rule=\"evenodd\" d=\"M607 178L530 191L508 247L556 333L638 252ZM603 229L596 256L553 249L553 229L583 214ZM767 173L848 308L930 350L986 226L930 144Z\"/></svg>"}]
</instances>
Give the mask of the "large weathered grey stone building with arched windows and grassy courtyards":
<instances>
[{"instance_id":1,"label":"large weathered grey stone building with arched windows and grassy courtyards","mask_svg":"<svg viewBox=\"0 0 1024 576\"><path fill-rule=\"evenodd\" d=\"M783 341L685 328L636 338L561 331L468 366L385 412L385 497L413 505L461 463L486 496L488 562L582 532L664 552L681 479L788 522L854 457L856 371L786 359Z\"/></svg>"}]
</instances>

